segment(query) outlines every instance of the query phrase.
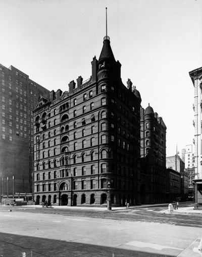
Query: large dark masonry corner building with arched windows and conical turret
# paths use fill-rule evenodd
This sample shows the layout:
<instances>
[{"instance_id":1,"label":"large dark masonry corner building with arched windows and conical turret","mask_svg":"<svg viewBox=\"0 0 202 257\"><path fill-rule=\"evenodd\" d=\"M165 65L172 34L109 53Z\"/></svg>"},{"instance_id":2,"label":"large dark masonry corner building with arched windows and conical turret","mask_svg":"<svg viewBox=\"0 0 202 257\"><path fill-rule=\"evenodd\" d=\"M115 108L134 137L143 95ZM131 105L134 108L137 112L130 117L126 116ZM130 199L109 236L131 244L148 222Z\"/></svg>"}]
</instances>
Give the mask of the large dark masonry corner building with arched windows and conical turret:
<instances>
[{"instance_id":1,"label":"large dark masonry corner building with arched windows and conical turret","mask_svg":"<svg viewBox=\"0 0 202 257\"><path fill-rule=\"evenodd\" d=\"M57 205L140 204L139 92L121 80L110 38L92 74L34 110L34 199ZM110 190L109 190L110 187ZM109 191L108 191L109 190Z\"/></svg>"}]
</instances>

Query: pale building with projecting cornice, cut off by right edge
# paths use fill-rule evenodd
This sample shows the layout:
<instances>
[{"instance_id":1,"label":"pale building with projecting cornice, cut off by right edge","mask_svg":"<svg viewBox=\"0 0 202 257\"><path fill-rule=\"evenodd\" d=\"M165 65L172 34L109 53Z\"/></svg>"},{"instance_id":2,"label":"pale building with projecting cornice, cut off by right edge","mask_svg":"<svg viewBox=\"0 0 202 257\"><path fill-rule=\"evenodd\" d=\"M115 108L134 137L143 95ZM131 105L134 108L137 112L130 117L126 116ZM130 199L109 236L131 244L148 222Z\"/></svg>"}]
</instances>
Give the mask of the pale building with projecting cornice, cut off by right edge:
<instances>
[{"instance_id":1,"label":"pale building with projecting cornice, cut off by right edge","mask_svg":"<svg viewBox=\"0 0 202 257\"><path fill-rule=\"evenodd\" d=\"M194 167L195 202L202 204L202 67L189 72L194 87Z\"/></svg>"}]
</instances>

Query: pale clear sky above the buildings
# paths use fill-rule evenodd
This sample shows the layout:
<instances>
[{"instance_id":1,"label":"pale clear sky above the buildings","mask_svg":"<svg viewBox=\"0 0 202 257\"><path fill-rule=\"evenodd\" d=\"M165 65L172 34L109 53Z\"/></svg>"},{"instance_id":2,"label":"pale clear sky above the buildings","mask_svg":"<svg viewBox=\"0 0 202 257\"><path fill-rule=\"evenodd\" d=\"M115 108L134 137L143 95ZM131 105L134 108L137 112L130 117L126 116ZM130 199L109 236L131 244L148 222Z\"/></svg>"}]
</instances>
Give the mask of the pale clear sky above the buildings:
<instances>
[{"instance_id":1,"label":"pale clear sky above the buildings","mask_svg":"<svg viewBox=\"0 0 202 257\"><path fill-rule=\"evenodd\" d=\"M49 91L91 75L108 35L128 78L167 126L167 156L192 144L194 88L202 66L201 0L0 0L0 63Z\"/></svg>"}]
</instances>

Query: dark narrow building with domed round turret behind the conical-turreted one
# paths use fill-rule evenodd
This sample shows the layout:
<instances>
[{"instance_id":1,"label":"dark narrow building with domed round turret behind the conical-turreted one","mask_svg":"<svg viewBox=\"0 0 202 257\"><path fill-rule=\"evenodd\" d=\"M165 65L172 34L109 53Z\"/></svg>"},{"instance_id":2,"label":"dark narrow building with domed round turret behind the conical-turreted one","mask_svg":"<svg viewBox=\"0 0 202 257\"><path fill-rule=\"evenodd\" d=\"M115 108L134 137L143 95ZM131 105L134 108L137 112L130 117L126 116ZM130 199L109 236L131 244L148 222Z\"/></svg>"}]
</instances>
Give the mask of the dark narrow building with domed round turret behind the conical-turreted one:
<instances>
[{"instance_id":1,"label":"dark narrow building with domed round turret behind the conical-turreted one","mask_svg":"<svg viewBox=\"0 0 202 257\"><path fill-rule=\"evenodd\" d=\"M151 106L140 110L141 202L166 199L166 125Z\"/></svg>"}]
</instances>

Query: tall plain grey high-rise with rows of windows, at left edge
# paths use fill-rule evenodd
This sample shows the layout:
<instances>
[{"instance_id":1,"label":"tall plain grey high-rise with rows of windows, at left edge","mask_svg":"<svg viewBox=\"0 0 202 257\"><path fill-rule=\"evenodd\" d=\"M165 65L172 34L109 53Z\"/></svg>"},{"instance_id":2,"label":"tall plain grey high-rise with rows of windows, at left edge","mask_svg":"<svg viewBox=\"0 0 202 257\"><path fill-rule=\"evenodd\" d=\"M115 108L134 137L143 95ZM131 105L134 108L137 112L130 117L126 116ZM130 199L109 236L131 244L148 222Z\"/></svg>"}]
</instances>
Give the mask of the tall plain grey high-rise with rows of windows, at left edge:
<instances>
[{"instance_id":1,"label":"tall plain grey high-rise with rows of windows, at left edge","mask_svg":"<svg viewBox=\"0 0 202 257\"><path fill-rule=\"evenodd\" d=\"M13 66L0 64L1 195L32 192L33 113L49 91Z\"/></svg>"}]
</instances>

